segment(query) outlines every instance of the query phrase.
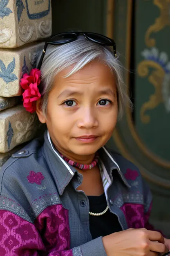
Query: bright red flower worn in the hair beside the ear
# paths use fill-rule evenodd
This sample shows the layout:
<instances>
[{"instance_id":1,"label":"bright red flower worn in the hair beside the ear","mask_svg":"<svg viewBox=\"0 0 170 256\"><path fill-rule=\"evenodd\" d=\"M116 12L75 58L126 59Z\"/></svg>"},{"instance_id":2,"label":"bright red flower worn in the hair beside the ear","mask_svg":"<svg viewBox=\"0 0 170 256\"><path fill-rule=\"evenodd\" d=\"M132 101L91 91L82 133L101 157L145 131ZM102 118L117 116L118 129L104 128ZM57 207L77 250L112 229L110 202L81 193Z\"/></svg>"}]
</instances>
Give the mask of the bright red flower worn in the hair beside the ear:
<instances>
[{"instance_id":1,"label":"bright red flower worn in the hair beside the ear","mask_svg":"<svg viewBox=\"0 0 170 256\"><path fill-rule=\"evenodd\" d=\"M41 97L38 89L40 74L41 71L39 69L31 69L30 75L25 73L20 82L21 87L25 90L22 94L23 106L31 113L36 111L36 101Z\"/></svg>"}]
</instances>

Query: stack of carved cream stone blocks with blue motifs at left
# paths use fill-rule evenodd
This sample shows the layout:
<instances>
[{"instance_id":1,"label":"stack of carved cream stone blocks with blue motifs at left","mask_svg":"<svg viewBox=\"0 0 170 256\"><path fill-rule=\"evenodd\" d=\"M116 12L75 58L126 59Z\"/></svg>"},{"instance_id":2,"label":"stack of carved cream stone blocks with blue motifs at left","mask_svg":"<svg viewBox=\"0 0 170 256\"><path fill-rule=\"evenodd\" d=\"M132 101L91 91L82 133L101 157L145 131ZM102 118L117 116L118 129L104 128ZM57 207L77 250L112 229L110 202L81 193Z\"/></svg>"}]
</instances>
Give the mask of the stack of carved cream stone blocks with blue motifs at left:
<instances>
[{"instance_id":1,"label":"stack of carved cream stone blocks with blue motifs at left","mask_svg":"<svg viewBox=\"0 0 170 256\"><path fill-rule=\"evenodd\" d=\"M44 45L36 40L51 30L51 0L0 0L0 167L40 130L22 106L20 78L36 67Z\"/></svg>"}]
</instances>

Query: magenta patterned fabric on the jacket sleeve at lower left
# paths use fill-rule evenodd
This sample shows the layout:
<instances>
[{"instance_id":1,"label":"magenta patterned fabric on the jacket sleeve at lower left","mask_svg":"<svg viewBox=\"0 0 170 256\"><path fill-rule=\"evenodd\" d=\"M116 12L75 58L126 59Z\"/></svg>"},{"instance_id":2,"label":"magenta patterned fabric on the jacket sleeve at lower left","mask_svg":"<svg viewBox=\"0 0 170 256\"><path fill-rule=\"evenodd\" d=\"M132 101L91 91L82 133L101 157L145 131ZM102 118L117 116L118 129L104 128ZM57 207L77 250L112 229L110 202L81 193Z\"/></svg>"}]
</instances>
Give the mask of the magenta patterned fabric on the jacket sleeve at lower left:
<instances>
[{"instance_id":1,"label":"magenta patterned fabric on the jacket sleeve at lower left","mask_svg":"<svg viewBox=\"0 0 170 256\"><path fill-rule=\"evenodd\" d=\"M0 210L0 256L72 256L68 211L47 207L34 224Z\"/></svg>"}]
</instances>

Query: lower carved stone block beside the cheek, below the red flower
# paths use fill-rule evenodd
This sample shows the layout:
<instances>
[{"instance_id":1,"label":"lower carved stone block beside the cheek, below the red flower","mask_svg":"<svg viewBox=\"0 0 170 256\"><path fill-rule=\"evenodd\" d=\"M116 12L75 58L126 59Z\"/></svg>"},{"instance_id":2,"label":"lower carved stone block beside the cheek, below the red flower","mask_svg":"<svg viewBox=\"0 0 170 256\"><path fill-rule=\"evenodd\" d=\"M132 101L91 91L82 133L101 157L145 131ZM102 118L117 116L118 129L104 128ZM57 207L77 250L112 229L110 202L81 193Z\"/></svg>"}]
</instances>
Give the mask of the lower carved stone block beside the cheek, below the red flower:
<instances>
[{"instance_id":1,"label":"lower carved stone block beside the cheek, below the red flower","mask_svg":"<svg viewBox=\"0 0 170 256\"><path fill-rule=\"evenodd\" d=\"M15 146L38 135L41 129L36 113L30 114L22 105L0 112L0 153L6 153Z\"/></svg>"}]
</instances>

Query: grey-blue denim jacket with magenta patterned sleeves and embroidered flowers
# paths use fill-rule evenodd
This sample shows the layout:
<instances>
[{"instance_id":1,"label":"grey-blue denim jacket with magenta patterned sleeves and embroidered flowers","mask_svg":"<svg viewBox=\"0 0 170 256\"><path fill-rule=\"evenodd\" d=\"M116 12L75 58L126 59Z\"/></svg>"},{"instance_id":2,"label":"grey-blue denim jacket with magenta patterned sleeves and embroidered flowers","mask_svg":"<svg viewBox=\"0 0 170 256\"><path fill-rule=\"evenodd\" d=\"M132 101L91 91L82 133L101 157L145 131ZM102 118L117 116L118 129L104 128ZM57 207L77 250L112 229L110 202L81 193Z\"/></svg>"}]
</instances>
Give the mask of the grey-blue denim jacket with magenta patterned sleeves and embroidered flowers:
<instances>
[{"instance_id":1,"label":"grey-blue denim jacket with magenta patterned sleeves and embroidered flowers","mask_svg":"<svg viewBox=\"0 0 170 256\"><path fill-rule=\"evenodd\" d=\"M139 170L106 147L99 155L107 204L122 229L150 228L152 196ZM106 256L102 237L92 240L82 178L47 131L13 154L0 170L0 256Z\"/></svg>"}]
</instances>

